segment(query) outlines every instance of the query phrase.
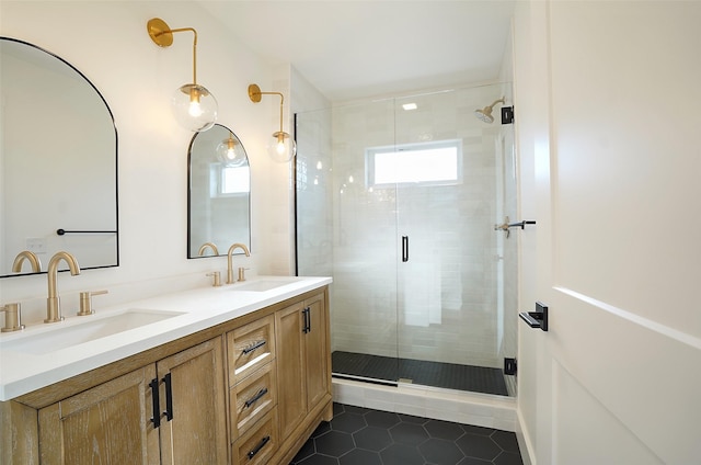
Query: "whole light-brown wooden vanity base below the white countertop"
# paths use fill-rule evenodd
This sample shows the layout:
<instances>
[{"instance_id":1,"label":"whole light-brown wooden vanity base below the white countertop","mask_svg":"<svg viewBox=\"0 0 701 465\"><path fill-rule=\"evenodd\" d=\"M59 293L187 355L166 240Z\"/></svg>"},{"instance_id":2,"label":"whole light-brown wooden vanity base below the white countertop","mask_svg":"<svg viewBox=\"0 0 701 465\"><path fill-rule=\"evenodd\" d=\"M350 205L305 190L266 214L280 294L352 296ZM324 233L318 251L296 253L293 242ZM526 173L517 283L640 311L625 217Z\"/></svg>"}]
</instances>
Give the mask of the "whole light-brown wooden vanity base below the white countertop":
<instances>
[{"instance_id":1,"label":"whole light-brown wooden vanity base below the white countertop","mask_svg":"<svg viewBox=\"0 0 701 465\"><path fill-rule=\"evenodd\" d=\"M322 287L0 402L0 465L290 463L333 416Z\"/></svg>"}]
</instances>

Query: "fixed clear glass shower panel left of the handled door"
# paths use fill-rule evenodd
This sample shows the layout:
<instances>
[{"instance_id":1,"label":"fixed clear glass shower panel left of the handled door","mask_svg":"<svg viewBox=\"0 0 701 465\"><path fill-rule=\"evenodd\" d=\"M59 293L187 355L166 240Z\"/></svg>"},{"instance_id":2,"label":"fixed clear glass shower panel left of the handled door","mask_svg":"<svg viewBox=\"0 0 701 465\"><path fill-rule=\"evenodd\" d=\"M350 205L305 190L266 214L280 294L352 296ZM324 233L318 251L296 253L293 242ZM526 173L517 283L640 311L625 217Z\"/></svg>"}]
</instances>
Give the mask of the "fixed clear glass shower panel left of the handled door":
<instances>
[{"instance_id":1,"label":"fixed clear glass shower panel left of the handled door","mask_svg":"<svg viewBox=\"0 0 701 465\"><path fill-rule=\"evenodd\" d=\"M334 376L394 384L397 192L369 189L366 148L393 140L393 102L297 115L298 274L332 275ZM332 137L333 134L333 137Z\"/></svg>"}]
</instances>

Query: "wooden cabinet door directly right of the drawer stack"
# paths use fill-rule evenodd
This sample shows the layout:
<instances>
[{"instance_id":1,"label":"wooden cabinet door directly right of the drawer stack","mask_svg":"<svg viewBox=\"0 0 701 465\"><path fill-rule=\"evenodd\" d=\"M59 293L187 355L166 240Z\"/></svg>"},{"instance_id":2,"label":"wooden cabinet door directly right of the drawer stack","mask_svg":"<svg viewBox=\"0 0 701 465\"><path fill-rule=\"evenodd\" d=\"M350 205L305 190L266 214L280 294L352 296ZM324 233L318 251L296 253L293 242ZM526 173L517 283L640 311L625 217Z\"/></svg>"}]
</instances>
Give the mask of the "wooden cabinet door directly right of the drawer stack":
<instances>
[{"instance_id":1,"label":"wooden cabinet door directly right of the drawer stack","mask_svg":"<svg viewBox=\"0 0 701 465\"><path fill-rule=\"evenodd\" d=\"M303 309L299 302L275 314L280 438L287 438L307 415Z\"/></svg>"}]
</instances>

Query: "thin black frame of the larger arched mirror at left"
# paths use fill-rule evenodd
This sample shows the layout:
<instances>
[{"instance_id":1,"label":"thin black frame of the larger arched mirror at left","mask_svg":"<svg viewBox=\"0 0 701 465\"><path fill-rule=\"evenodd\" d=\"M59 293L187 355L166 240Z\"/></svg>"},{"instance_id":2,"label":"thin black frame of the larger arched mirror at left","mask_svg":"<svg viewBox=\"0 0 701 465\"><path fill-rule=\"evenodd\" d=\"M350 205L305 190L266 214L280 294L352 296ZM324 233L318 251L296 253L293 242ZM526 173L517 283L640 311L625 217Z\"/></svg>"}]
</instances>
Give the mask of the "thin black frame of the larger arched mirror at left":
<instances>
[{"instance_id":1,"label":"thin black frame of the larger arched mirror at left","mask_svg":"<svg viewBox=\"0 0 701 465\"><path fill-rule=\"evenodd\" d=\"M115 229L114 229L114 231L112 231L112 230L110 230L110 231L102 231L102 230L71 231L71 230L64 230L64 229L59 228L59 229L56 230L56 235L57 236L62 236L65 234L87 234L87 232L95 232L95 234L110 232L110 234L114 234L115 235L114 263L88 265L88 266L81 265L80 268L81 268L81 271L82 271L82 270L97 270L97 269L103 269L103 268L116 268L116 266L119 266L119 135L118 135L118 132L117 132L117 126L116 126L115 121L114 121L114 113L112 112L112 109L110 107L110 104L105 100L105 98L102 94L102 92L100 92L97 87L90 79L88 79L88 77L83 72L81 72L78 68L76 68L73 65L71 65L66 59L61 58L60 56L56 55L53 52L47 50L44 47L41 47L41 46L35 45L35 44L32 44L30 42L22 41L20 38L15 38L15 37L0 35L0 42L4 42L4 41L13 42L13 43L16 43L16 44L21 44L21 45L24 45L24 46L32 47L32 48L34 48L34 49L36 49L38 52L42 52L42 53L48 55L51 58L55 58L55 59L59 60L62 65L66 65L71 71L76 72L77 78L81 78L85 83L88 83L88 86L100 98L100 101L102 101L102 103L105 105L105 109L106 109L107 114L110 116L110 123L112 124L112 128L114 129L114 181L115 181L114 225L115 225ZM21 252L21 251L18 251L18 253L19 252ZM77 257L77 259L80 262L80 257ZM43 263L43 266L46 266L46 265L47 264ZM65 271L65 270L67 270L66 266L59 266L59 271ZM34 274L46 274L46 273L47 273L47 271L39 271L39 272L30 271L30 272L20 272L20 273L11 273L11 274L0 274L0 279L2 279L2 277L27 276L27 275L34 275Z\"/></svg>"}]
</instances>

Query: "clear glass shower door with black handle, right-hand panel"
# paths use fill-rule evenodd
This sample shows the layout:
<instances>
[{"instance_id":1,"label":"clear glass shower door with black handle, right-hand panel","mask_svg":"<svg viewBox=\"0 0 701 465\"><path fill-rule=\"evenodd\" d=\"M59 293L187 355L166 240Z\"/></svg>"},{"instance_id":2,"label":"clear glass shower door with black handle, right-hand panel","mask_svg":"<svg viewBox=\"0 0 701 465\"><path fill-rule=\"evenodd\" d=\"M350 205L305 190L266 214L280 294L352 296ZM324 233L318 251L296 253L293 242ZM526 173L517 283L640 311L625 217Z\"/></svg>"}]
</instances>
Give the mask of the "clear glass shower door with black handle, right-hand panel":
<instances>
[{"instance_id":1,"label":"clear glass shower door with black handle, right-hand panel","mask_svg":"<svg viewBox=\"0 0 701 465\"><path fill-rule=\"evenodd\" d=\"M395 105L395 147L410 155L404 166L414 165L414 178L397 190L406 243L398 273L403 383L507 395L494 231L497 141L505 129L473 115L496 92L496 86L456 90ZM416 109L404 111L406 103Z\"/></svg>"}]
</instances>

